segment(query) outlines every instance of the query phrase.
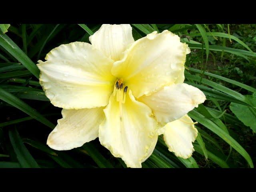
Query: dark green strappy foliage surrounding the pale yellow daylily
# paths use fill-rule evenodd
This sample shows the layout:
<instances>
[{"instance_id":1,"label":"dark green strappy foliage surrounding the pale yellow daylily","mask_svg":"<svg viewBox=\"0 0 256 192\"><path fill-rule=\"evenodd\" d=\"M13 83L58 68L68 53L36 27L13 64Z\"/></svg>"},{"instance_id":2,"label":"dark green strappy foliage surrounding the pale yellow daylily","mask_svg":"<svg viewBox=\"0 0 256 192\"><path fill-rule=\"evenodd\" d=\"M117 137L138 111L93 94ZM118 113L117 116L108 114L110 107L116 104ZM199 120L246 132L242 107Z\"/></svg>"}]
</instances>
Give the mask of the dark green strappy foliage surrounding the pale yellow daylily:
<instances>
[{"instance_id":1,"label":"dark green strappy foliage surrounding the pale yellow daylily","mask_svg":"<svg viewBox=\"0 0 256 192\"><path fill-rule=\"evenodd\" d=\"M60 44L89 42L101 24L0 24L0 168L122 168L98 139L70 151L46 145L62 118L46 98L37 60ZM189 112L197 121L195 152L177 158L159 136L144 168L248 168L256 162L256 24L132 24L137 40L169 30L186 42L185 82L206 102Z\"/></svg>"}]
</instances>

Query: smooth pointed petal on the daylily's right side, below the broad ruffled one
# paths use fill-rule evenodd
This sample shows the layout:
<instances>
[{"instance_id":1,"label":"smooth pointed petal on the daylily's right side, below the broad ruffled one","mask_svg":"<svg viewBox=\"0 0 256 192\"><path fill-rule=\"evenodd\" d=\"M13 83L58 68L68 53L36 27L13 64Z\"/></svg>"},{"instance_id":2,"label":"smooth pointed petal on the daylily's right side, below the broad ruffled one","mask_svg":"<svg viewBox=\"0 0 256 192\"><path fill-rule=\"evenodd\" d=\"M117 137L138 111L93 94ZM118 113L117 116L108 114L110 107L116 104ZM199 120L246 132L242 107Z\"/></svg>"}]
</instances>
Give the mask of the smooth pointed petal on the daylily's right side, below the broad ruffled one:
<instances>
[{"instance_id":1,"label":"smooth pointed petal on the daylily's right side, below the broad ruffled one","mask_svg":"<svg viewBox=\"0 0 256 192\"><path fill-rule=\"evenodd\" d=\"M148 105L161 124L177 120L206 100L204 93L186 83L165 86L162 90L142 96L139 101Z\"/></svg>"}]
</instances>

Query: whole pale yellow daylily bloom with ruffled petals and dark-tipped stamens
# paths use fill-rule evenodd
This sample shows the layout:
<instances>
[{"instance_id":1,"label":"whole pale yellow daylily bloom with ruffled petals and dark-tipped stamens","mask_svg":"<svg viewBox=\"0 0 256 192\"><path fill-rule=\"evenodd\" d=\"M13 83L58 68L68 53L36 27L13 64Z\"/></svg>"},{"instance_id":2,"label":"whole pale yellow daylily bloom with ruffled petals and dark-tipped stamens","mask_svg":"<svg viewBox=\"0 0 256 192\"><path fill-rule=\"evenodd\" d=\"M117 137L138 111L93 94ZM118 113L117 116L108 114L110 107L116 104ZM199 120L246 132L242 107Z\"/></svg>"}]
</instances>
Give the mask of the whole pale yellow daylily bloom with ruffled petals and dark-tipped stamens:
<instances>
[{"instance_id":1,"label":"whole pale yellow daylily bloom with ruffled petals and dark-tipped stamens","mask_svg":"<svg viewBox=\"0 0 256 192\"><path fill-rule=\"evenodd\" d=\"M186 114L206 98L183 83L188 46L168 30L134 42L129 24L103 24L89 40L38 61L46 96L63 108L48 146L70 150L99 137L113 156L140 168L164 134L170 151L190 157L197 130Z\"/></svg>"}]
</instances>

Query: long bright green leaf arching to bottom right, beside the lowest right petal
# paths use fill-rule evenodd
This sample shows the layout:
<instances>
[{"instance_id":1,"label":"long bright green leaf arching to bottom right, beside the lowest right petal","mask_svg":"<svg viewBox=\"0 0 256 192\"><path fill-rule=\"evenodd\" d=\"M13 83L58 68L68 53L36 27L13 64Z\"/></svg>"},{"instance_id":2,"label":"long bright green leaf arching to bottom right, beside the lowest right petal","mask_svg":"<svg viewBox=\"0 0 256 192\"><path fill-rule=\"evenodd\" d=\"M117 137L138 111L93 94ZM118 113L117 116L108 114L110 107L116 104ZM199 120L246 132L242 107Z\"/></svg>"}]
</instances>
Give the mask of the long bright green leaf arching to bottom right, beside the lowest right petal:
<instances>
[{"instance_id":1,"label":"long bright green leaf arching to bottom right, beside the lowest right petal","mask_svg":"<svg viewBox=\"0 0 256 192\"><path fill-rule=\"evenodd\" d=\"M226 141L230 146L232 146L238 153L240 153L248 162L249 166L253 168L253 163L250 155L242 148L242 146L236 142L229 134L227 134L224 130L222 130L220 127L218 127L214 122L212 122L210 119L204 117L202 114L196 112L196 110L192 110L188 113L188 115L199 122L200 124L204 125L208 129L210 129L212 132L217 134L220 138L222 138L224 141ZM210 155L208 153L208 157L210 158Z\"/></svg>"}]
</instances>

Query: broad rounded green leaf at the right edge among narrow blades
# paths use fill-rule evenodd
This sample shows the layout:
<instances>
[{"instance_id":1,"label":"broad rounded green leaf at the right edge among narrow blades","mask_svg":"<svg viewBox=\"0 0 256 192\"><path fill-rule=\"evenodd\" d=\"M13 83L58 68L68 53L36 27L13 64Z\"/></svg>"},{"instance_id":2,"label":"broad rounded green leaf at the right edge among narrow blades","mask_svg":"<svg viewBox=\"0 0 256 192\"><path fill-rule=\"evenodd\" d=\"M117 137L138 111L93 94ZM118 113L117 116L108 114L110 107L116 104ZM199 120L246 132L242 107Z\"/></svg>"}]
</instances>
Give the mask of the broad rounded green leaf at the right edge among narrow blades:
<instances>
[{"instance_id":1,"label":"broad rounded green leaf at the right edge among narrow blades","mask_svg":"<svg viewBox=\"0 0 256 192\"><path fill-rule=\"evenodd\" d=\"M256 99L251 95L246 96L246 99L251 100L252 104L256 106ZM246 126L250 127L254 133L256 133L256 108L231 103L230 110L240 121L242 121Z\"/></svg>"}]
</instances>

